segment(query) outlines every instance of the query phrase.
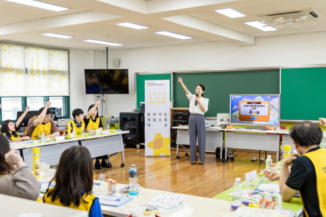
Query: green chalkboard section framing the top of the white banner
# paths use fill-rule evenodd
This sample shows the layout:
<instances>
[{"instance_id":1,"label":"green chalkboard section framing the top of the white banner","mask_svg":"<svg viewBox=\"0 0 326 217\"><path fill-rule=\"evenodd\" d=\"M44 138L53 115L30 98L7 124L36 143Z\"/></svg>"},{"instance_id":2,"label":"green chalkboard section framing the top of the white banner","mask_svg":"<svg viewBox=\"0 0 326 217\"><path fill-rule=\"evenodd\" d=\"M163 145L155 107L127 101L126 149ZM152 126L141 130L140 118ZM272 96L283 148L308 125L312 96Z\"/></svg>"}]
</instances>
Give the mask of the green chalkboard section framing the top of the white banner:
<instances>
[{"instance_id":1,"label":"green chalkboard section framing the top of the white banner","mask_svg":"<svg viewBox=\"0 0 326 217\"><path fill-rule=\"evenodd\" d=\"M145 102L145 80L170 80L170 100L172 96L172 73L164 74L136 74L136 102L140 109L140 102Z\"/></svg>"}]
</instances>

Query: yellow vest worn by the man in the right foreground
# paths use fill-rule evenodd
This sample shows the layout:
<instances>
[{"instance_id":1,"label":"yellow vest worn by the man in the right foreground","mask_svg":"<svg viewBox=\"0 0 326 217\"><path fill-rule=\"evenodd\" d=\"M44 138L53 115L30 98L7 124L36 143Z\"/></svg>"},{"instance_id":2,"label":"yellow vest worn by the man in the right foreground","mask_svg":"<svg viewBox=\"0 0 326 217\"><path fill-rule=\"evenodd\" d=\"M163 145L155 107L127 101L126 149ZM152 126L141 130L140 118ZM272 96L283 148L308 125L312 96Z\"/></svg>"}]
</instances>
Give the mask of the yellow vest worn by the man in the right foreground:
<instances>
[{"instance_id":1,"label":"yellow vest worn by the man in the right foreground","mask_svg":"<svg viewBox=\"0 0 326 217\"><path fill-rule=\"evenodd\" d=\"M316 172L316 180L317 180L317 195L318 195L318 202L319 202L319 209L323 216L326 216L326 150L323 148L319 148L316 151L311 151L304 156L307 156L312 164L314 165L315 172ZM303 204L304 201L302 200ZM304 204L305 205L305 204ZM306 216L309 216L305 206L304 210Z\"/></svg>"}]
</instances>

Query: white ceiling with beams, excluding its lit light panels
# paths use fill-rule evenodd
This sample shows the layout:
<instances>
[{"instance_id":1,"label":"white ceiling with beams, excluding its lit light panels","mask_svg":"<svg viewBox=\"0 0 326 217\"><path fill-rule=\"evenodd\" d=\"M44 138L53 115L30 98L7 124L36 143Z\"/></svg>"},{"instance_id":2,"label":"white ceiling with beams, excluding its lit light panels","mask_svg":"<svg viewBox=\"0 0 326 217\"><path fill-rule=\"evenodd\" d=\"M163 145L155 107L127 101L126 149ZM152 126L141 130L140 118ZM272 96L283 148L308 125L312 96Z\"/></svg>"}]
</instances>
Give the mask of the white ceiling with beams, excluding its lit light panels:
<instances>
[{"instance_id":1,"label":"white ceiling with beams, excluding its lit light panels","mask_svg":"<svg viewBox=\"0 0 326 217\"><path fill-rule=\"evenodd\" d=\"M95 39L123 46L110 49L187 44L219 41L220 43L254 44L256 37L326 31L324 0L44 0L69 8L61 12L24 6L0 0L0 41L15 41L64 48L104 50L106 45L84 42ZM232 8L246 17L229 18L214 12ZM258 15L312 8L318 13L315 24L284 24L278 31L263 32L246 21L261 20ZM134 30L116 25L133 22L149 26ZM170 31L193 39L180 40L157 35ZM60 39L42 36L57 33L73 36Z\"/></svg>"}]
</instances>

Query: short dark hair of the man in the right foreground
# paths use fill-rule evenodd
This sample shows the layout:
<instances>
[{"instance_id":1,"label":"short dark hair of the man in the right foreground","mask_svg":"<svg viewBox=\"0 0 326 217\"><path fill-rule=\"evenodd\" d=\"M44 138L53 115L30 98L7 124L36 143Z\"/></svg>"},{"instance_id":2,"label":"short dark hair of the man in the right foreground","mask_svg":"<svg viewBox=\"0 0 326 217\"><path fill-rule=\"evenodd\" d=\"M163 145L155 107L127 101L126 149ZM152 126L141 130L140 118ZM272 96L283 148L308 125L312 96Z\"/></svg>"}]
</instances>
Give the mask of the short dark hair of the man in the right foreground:
<instances>
[{"instance_id":1,"label":"short dark hair of the man in the right foreground","mask_svg":"<svg viewBox=\"0 0 326 217\"><path fill-rule=\"evenodd\" d=\"M317 124L302 121L290 128L290 137L300 146L319 145L322 140L322 131Z\"/></svg>"}]
</instances>

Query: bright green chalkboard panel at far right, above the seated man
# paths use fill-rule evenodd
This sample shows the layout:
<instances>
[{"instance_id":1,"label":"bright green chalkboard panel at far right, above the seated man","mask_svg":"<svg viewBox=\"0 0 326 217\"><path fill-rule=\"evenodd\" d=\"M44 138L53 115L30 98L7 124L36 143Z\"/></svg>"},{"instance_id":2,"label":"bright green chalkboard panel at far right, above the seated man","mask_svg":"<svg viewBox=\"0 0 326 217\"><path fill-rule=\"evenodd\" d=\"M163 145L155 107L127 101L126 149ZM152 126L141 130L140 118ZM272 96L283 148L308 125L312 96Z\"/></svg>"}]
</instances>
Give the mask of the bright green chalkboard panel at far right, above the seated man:
<instances>
[{"instance_id":1,"label":"bright green chalkboard panel at far right, above the seated man","mask_svg":"<svg viewBox=\"0 0 326 217\"><path fill-rule=\"evenodd\" d=\"M281 69L281 119L326 117L326 67Z\"/></svg>"}]
</instances>

